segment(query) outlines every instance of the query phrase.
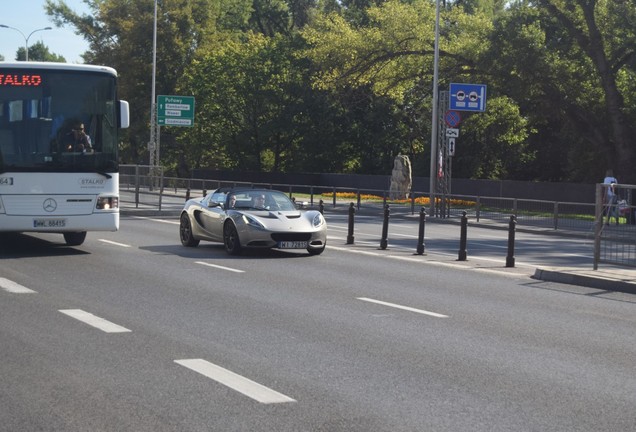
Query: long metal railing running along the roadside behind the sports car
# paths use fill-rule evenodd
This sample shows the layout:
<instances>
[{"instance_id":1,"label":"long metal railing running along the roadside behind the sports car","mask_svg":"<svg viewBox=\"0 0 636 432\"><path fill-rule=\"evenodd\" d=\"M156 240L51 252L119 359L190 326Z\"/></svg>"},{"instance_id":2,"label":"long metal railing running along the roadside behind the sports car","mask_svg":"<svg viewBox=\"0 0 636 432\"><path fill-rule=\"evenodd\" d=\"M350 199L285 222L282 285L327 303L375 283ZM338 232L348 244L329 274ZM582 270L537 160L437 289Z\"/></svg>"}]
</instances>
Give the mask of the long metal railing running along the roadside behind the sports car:
<instances>
[{"instance_id":1,"label":"long metal railing running along the roadside behind the sports car","mask_svg":"<svg viewBox=\"0 0 636 432\"><path fill-rule=\"evenodd\" d=\"M120 201L122 206L152 208L162 211L164 201L184 202L195 196L205 196L220 187L266 187L289 193L290 196L309 197L309 206L322 201L325 206L348 207L351 202L359 210L364 206L382 207L390 203L392 211L415 214L429 207L429 193L414 191L409 199L390 199L389 190L290 185L165 177L161 167L143 165L120 166ZM552 231L567 231L589 237L594 244L594 269L599 263L636 267L636 206L627 205L619 215L619 223L603 225L603 216L610 210L602 202L603 185L597 185L596 204L556 202L519 198L446 195L436 197L436 214L440 219L459 222L463 212L480 224L507 226L510 216L516 217L517 227ZM620 185L619 195L631 201L636 186ZM127 193L121 193L127 192ZM305 199L305 198L303 198ZM606 219L606 218L605 218Z\"/></svg>"}]
</instances>

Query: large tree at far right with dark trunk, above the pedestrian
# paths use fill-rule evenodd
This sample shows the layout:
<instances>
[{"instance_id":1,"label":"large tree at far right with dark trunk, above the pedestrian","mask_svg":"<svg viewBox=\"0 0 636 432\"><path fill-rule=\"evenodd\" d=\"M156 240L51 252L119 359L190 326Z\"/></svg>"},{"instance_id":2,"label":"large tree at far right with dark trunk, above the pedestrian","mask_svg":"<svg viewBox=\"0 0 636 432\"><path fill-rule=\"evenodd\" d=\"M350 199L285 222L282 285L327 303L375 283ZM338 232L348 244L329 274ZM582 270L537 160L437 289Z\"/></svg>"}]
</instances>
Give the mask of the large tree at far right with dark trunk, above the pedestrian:
<instances>
[{"instance_id":1,"label":"large tree at far right with dark trunk, above the pedestrian","mask_svg":"<svg viewBox=\"0 0 636 432\"><path fill-rule=\"evenodd\" d=\"M536 176L598 181L613 167L634 182L636 117L626 100L634 94L635 9L626 1L526 3L495 21L484 68L538 132Z\"/></svg>"}]
</instances>

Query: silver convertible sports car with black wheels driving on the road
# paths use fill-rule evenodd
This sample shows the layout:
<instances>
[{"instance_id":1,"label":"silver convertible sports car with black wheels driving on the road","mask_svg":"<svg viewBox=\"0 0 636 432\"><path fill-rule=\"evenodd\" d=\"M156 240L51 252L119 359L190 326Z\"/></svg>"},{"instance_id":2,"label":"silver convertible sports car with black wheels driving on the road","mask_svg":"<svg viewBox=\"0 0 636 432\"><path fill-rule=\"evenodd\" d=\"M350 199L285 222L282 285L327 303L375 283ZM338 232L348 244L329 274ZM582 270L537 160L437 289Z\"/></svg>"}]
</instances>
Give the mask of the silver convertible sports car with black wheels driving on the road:
<instances>
[{"instance_id":1,"label":"silver convertible sports car with black wheels driving on the road","mask_svg":"<svg viewBox=\"0 0 636 432\"><path fill-rule=\"evenodd\" d=\"M184 246L222 242L230 255L243 248L306 249L319 255L327 244L327 222L319 211L300 210L283 192L221 188L191 199L181 211Z\"/></svg>"}]
</instances>

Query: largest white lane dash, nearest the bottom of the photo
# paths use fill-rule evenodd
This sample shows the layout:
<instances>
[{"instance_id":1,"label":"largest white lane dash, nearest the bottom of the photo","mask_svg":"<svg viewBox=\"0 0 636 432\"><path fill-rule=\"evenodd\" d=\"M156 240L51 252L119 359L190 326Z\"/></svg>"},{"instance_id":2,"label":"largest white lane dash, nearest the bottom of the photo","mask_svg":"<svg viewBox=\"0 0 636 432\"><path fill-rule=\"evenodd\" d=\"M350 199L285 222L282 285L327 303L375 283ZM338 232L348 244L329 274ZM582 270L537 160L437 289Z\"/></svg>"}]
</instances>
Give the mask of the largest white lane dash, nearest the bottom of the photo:
<instances>
[{"instance_id":1,"label":"largest white lane dash, nearest the bottom of the photo","mask_svg":"<svg viewBox=\"0 0 636 432\"><path fill-rule=\"evenodd\" d=\"M296 402L295 399L289 396L278 393L264 385L203 359L184 359L175 360L174 362L263 404Z\"/></svg>"}]
</instances>

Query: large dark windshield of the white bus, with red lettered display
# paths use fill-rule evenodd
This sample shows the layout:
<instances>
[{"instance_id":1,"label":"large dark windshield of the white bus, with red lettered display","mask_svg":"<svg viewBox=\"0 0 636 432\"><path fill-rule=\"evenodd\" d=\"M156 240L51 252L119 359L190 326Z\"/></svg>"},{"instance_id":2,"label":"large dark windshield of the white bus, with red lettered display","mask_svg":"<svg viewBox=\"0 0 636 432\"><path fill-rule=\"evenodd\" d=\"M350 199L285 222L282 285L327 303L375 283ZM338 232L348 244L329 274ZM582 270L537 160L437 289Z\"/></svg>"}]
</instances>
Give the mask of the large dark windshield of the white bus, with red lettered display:
<instances>
[{"instance_id":1,"label":"large dark windshield of the white bus, with red lettered display","mask_svg":"<svg viewBox=\"0 0 636 432\"><path fill-rule=\"evenodd\" d=\"M0 173L117 172L115 80L0 63Z\"/></svg>"}]
</instances>

